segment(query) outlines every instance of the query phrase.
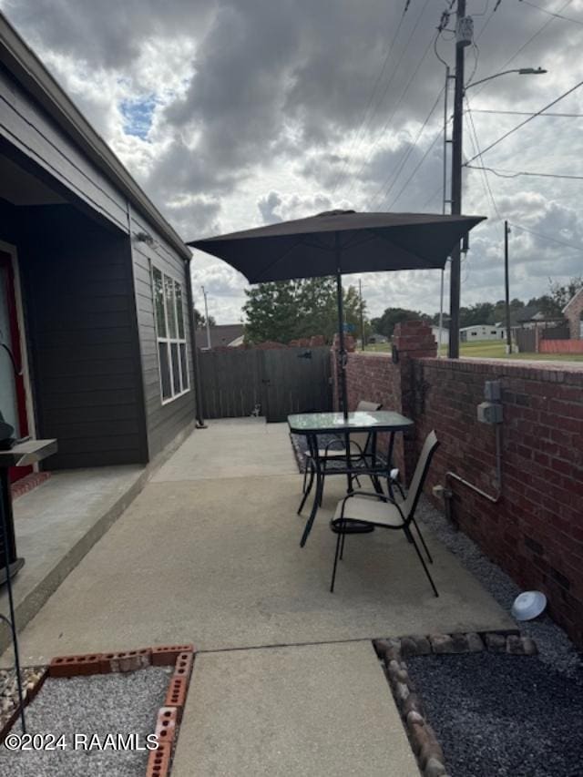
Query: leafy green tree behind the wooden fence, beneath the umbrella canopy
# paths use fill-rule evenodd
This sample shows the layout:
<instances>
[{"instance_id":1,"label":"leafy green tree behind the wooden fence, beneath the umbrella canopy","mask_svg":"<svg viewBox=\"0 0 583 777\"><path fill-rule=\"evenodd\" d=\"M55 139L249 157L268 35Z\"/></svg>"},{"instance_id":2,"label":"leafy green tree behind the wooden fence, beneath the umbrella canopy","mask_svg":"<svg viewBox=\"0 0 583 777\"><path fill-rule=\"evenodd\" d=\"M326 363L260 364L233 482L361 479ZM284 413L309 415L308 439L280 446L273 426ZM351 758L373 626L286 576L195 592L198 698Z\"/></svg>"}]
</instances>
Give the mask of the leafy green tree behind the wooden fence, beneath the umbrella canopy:
<instances>
[{"instance_id":1,"label":"leafy green tree behind the wooden fence, beneath the umbrella canopy","mask_svg":"<svg viewBox=\"0 0 583 777\"><path fill-rule=\"evenodd\" d=\"M313 334L323 334L326 342L332 342L338 330L334 278L259 283L246 289L245 294L246 342L290 342ZM344 322L357 334L360 332L360 298L353 286L343 290L343 304Z\"/></svg>"}]
</instances>

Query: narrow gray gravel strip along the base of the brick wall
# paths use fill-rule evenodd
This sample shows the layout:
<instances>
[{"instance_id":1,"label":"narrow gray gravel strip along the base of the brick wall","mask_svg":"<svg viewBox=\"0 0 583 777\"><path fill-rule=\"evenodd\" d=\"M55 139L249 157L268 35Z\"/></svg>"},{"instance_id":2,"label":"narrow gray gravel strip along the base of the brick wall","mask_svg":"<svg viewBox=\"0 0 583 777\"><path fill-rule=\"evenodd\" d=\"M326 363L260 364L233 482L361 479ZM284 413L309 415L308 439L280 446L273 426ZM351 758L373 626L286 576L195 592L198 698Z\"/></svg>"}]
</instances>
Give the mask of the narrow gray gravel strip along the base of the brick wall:
<instances>
[{"instance_id":1,"label":"narrow gray gravel strip along the base of the brick wall","mask_svg":"<svg viewBox=\"0 0 583 777\"><path fill-rule=\"evenodd\" d=\"M464 532L456 531L424 497L417 507L417 517L427 526L445 547L480 581L498 604L510 612L521 589L500 567L489 561L476 543ZM517 623L522 634L537 642L539 659L562 672L567 677L580 676L583 657L567 634L547 615L535 620ZM583 768L580 771L583 774Z\"/></svg>"}]
</instances>

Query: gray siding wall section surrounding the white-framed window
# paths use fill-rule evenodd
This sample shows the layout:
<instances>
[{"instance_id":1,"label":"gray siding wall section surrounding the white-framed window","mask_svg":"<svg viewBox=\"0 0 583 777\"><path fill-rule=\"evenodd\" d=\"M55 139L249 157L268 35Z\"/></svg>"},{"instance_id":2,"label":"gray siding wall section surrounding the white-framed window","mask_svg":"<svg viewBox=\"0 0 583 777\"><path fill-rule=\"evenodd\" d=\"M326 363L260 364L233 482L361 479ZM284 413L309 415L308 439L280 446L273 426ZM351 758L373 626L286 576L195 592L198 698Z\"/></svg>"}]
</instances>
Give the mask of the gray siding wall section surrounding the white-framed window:
<instances>
[{"instance_id":1,"label":"gray siding wall section surrounding the white-framed window","mask_svg":"<svg viewBox=\"0 0 583 777\"><path fill-rule=\"evenodd\" d=\"M136 291L136 317L139 332L140 356L148 428L148 453L153 458L195 418L195 383L190 347L190 320L188 315L188 264L179 257L148 222L139 214L130 215L131 233L147 232L153 244L132 240L134 284ZM158 363L158 342L154 319L154 298L151 281L151 266L180 281L184 287L184 326L189 363L189 385L187 394L162 404Z\"/></svg>"}]
</instances>

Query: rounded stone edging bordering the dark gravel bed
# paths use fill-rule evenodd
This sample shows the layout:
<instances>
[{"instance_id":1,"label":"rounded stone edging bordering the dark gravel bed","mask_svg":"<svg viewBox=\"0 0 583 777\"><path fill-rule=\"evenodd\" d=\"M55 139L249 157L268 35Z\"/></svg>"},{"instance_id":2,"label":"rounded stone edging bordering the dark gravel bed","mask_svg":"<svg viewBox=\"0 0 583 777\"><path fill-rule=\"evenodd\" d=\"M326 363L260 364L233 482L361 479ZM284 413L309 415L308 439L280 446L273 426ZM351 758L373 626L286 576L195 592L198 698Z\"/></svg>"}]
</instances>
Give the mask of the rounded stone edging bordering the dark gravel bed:
<instances>
[{"instance_id":1,"label":"rounded stone edging bordering the dark gravel bed","mask_svg":"<svg viewBox=\"0 0 583 777\"><path fill-rule=\"evenodd\" d=\"M447 777L445 756L434 729L427 721L423 700L414 688L403 659L431 654L479 653L484 650L520 656L533 656L538 652L535 640L522 637L516 629L373 639L373 648L383 661L384 673L424 777Z\"/></svg>"}]
</instances>

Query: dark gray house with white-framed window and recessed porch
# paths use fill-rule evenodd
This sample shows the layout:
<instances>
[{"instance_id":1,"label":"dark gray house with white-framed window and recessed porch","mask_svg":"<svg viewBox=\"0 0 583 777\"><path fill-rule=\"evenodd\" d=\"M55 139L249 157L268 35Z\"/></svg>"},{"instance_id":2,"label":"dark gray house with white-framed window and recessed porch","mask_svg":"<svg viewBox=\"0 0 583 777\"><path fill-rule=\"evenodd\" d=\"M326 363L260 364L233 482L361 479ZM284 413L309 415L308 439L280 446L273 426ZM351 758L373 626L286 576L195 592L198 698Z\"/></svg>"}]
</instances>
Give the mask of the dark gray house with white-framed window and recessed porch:
<instances>
[{"instance_id":1,"label":"dark gray house with white-framed window and recessed porch","mask_svg":"<svg viewBox=\"0 0 583 777\"><path fill-rule=\"evenodd\" d=\"M1 14L0 97L0 410L50 469L148 462L194 425L190 250Z\"/></svg>"}]
</instances>

